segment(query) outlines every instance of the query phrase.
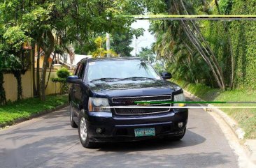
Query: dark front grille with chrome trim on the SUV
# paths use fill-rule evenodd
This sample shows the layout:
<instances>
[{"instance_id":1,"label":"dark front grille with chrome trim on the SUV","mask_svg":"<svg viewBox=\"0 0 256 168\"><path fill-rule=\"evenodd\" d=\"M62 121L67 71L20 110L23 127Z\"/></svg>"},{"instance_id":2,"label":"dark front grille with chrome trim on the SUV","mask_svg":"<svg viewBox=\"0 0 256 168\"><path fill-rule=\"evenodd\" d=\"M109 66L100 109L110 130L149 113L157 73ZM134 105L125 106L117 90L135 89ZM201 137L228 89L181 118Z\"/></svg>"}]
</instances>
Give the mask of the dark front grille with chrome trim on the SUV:
<instances>
[{"instance_id":1,"label":"dark front grille with chrome trim on the SUV","mask_svg":"<svg viewBox=\"0 0 256 168\"><path fill-rule=\"evenodd\" d=\"M164 96L140 96L140 97L125 97L125 98L112 98L113 107L115 106L142 106L134 103L135 101L171 101L171 95ZM144 105L145 106L145 105ZM152 104L149 107L158 108L114 108L115 114L118 115L139 115L139 114L154 114L160 112L169 112L171 110L170 103ZM165 108L159 108L165 106ZM168 106L169 108L166 108Z\"/></svg>"}]
</instances>

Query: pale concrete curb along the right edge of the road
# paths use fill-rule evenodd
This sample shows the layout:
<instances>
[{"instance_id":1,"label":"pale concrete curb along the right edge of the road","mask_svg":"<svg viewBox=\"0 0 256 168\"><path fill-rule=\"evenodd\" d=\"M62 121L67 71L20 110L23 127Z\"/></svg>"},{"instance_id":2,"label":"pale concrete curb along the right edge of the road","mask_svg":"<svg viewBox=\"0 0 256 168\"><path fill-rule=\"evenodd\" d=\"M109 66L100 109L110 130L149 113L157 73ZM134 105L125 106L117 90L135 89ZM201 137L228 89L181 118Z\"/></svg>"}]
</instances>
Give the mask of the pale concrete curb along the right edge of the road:
<instances>
[{"instance_id":1,"label":"pale concrete curb along the right edge of the road","mask_svg":"<svg viewBox=\"0 0 256 168\"><path fill-rule=\"evenodd\" d=\"M185 94L185 96L192 98L194 100L197 101L205 101L202 100L201 98L194 96L194 94L185 91L183 89L183 92ZM208 104L208 107L214 107L214 105ZM218 116L220 116L221 119L223 119L223 121L225 121L225 123L227 123L227 125L229 125L229 128L231 128L232 132L234 132L234 134L236 135L236 138L238 139L238 141L240 142L241 146L243 146L243 148L246 149L246 151L248 151L248 157L250 158L250 160L256 165L256 139L244 139L244 135L245 132L243 131L242 128L239 127L238 123L236 121L234 121L233 119L231 119L225 112L222 112L222 110L220 109L204 109L206 112L215 112L215 114L217 114ZM243 144L244 141L242 140L246 140L246 142Z\"/></svg>"}]
</instances>

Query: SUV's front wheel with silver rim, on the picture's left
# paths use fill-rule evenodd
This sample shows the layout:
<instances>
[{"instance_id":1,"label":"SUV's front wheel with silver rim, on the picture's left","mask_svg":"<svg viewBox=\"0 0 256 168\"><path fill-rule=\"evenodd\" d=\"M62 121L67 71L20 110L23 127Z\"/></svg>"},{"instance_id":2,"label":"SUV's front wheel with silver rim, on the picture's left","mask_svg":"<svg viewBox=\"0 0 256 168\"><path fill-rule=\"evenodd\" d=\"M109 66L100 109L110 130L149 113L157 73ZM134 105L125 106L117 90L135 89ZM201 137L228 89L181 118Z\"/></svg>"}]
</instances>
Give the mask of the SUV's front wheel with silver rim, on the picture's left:
<instances>
[{"instance_id":1,"label":"SUV's front wheel with silver rim, on the picture's left","mask_svg":"<svg viewBox=\"0 0 256 168\"><path fill-rule=\"evenodd\" d=\"M79 139L83 147L85 148L94 148L95 144L90 142L90 135L88 134L87 124L85 121L85 117L81 116L79 119L79 127L78 127Z\"/></svg>"}]
</instances>

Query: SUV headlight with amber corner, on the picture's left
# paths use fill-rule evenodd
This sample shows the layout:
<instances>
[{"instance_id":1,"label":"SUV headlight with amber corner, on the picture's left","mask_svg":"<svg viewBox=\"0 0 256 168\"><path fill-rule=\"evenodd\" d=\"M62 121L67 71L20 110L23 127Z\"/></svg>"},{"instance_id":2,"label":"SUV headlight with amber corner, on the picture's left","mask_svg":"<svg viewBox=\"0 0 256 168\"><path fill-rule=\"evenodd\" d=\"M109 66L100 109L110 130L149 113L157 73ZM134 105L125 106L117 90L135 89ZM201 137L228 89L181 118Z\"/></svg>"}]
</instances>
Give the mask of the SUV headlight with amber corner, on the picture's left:
<instances>
[{"instance_id":1,"label":"SUV headlight with amber corner, on the picture's left","mask_svg":"<svg viewBox=\"0 0 256 168\"><path fill-rule=\"evenodd\" d=\"M111 109L104 108L108 107L107 98L89 98L88 109L89 112L111 112Z\"/></svg>"}]
</instances>

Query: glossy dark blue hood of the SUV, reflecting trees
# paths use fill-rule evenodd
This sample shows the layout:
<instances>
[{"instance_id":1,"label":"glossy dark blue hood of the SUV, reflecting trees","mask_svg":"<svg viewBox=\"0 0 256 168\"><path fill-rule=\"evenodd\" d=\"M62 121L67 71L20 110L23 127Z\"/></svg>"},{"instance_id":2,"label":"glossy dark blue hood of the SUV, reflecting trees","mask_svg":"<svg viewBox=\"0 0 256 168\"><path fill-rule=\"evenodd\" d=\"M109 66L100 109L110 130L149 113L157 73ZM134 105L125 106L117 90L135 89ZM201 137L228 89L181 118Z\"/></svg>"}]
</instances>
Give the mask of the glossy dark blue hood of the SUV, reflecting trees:
<instances>
[{"instance_id":1,"label":"glossy dark blue hood of the SUV, reflecting trees","mask_svg":"<svg viewBox=\"0 0 256 168\"><path fill-rule=\"evenodd\" d=\"M89 84L96 97L157 96L183 92L172 82L159 80L125 80L118 82L94 82Z\"/></svg>"}]
</instances>

